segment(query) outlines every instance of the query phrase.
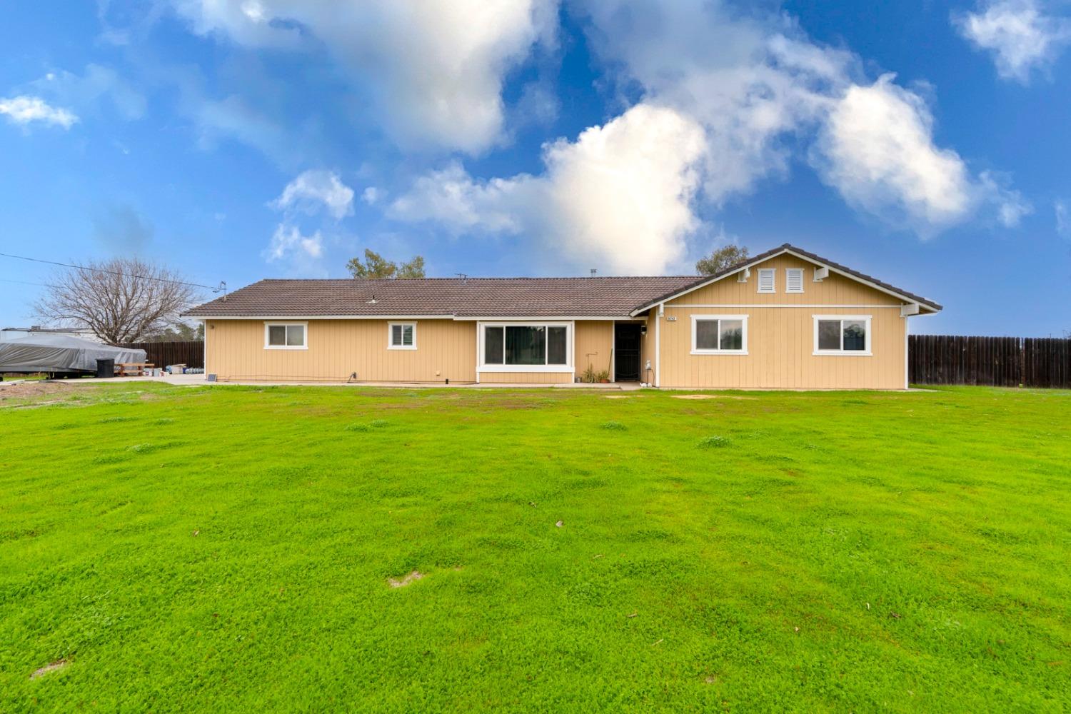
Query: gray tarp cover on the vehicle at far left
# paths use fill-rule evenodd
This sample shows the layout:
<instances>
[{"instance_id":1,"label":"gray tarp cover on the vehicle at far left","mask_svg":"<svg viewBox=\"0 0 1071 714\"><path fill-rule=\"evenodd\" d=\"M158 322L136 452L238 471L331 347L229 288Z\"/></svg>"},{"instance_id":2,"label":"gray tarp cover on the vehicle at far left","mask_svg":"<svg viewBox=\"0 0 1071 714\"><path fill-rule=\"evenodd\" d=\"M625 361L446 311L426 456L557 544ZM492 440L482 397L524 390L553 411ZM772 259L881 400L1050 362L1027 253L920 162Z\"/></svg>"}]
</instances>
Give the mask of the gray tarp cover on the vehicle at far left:
<instances>
[{"instance_id":1,"label":"gray tarp cover on the vehicle at far left","mask_svg":"<svg viewBox=\"0 0 1071 714\"><path fill-rule=\"evenodd\" d=\"M96 371L97 360L145 362L145 350L109 347L67 335L30 335L0 343L3 371Z\"/></svg>"}]
</instances>

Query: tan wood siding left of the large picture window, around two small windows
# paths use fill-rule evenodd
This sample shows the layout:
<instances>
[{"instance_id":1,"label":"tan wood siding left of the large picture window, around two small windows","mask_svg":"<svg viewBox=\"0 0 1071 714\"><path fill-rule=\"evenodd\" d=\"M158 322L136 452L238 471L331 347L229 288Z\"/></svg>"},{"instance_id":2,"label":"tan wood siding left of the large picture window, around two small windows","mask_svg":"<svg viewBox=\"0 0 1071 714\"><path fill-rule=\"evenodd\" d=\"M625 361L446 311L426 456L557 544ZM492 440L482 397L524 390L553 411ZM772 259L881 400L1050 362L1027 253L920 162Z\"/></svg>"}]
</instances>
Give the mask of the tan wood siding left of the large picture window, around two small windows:
<instances>
[{"instance_id":1,"label":"tan wood siding left of the large picture window, around two small windows","mask_svg":"<svg viewBox=\"0 0 1071 714\"><path fill-rule=\"evenodd\" d=\"M308 320L307 350L265 349L265 320L208 320L207 371L221 380L472 382L476 324L417 323L416 350L390 350L388 320Z\"/></svg>"}]
</instances>

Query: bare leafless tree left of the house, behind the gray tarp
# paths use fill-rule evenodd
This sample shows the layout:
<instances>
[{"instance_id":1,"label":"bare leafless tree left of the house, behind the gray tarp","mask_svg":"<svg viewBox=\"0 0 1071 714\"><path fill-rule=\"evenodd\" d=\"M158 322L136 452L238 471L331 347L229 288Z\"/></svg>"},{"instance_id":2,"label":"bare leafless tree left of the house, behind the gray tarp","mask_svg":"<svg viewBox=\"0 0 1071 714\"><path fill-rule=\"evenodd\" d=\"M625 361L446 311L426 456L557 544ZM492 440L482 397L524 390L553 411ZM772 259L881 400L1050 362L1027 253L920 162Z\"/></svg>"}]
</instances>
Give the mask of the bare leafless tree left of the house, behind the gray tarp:
<instances>
[{"instance_id":1,"label":"bare leafless tree left of the house, behind the gray tarp","mask_svg":"<svg viewBox=\"0 0 1071 714\"><path fill-rule=\"evenodd\" d=\"M182 276L137 258L59 271L35 308L42 318L87 326L109 345L138 341L176 324L199 298Z\"/></svg>"}]
</instances>

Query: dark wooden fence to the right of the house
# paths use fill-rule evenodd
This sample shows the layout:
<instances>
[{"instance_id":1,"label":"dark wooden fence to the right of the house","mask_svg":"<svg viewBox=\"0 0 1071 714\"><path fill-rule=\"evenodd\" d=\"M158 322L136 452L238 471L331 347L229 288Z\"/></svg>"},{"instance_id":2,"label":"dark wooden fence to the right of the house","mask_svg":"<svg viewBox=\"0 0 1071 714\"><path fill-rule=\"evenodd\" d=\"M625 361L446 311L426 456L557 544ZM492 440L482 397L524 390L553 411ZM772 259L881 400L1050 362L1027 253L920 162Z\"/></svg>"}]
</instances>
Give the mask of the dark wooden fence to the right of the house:
<instances>
[{"instance_id":1,"label":"dark wooden fence to the right of the house","mask_svg":"<svg viewBox=\"0 0 1071 714\"><path fill-rule=\"evenodd\" d=\"M1071 339L910 335L912 384L1071 388Z\"/></svg>"}]
</instances>

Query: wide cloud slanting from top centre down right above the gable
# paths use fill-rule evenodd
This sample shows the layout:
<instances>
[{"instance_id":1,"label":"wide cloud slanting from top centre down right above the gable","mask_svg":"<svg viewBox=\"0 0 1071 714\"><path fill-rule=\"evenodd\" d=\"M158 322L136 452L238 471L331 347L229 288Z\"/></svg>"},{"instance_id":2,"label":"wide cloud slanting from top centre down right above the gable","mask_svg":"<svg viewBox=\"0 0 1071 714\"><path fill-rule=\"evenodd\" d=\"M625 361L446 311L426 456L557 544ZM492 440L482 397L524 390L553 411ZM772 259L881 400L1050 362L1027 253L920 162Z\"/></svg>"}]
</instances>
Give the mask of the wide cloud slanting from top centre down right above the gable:
<instances>
[{"instance_id":1,"label":"wide cloud slanting from top centre down right above the gable","mask_svg":"<svg viewBox=\"0 0 1071 714\"><path fill-rule=\"evenodd\" d=\"M704 195L720 203L784 176L811 145L819 173L858 210L922 236L1025 203L938 146L918 93L891 75L872 82L854 55L811 42L783 16L741 17L709 0L588 5L599 56L707 133ZM1019 208L1016 208L1019 207Z\"/></svg>"}]
</instances>

